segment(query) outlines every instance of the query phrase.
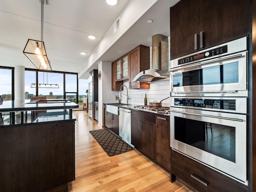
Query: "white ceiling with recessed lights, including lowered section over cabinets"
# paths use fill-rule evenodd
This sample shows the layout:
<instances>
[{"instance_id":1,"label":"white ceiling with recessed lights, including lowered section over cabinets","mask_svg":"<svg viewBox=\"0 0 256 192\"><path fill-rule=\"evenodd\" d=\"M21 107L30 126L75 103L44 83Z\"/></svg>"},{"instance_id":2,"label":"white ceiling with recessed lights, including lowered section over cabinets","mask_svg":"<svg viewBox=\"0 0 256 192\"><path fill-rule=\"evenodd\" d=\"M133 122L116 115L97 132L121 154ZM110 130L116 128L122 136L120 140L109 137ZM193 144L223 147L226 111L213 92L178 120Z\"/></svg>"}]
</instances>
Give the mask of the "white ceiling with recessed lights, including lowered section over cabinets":
<instances>
[{"instance_id":1,"label":"white ceiling with recessed lights, including lowered section over cabinets","mask_svg":"<svg viewBox=\"0 0 256 192\"><path fill-rule=\"evenodd\" d=\"M47 1L43 40L52 70L78 72L130 0L119 0L116 6L105 0ZM170 36L170 6L176 2L158 0L98 60L112 62L139 44L151 46L154 34ZM154 22L148 24L148 19ZM88 39L89 34L96 39ZM35 68L22 53L28 39L41 40L40 0L0 0L0 66Z\"/></svg>"}]
</instances>

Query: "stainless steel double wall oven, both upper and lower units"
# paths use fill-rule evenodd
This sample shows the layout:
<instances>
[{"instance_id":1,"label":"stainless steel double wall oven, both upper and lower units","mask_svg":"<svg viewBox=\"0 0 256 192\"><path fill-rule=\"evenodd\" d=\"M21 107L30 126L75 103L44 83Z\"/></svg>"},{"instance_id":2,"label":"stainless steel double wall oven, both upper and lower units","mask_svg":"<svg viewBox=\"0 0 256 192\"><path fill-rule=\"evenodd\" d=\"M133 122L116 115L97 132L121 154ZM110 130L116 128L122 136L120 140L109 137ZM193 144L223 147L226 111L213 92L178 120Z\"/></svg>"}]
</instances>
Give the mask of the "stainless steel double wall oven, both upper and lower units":
<instances>
[{"instance_id":1,"label":"stainless steel double wall oven, both upper and lower units","mask_svg":"<svg viewBox=\"0 0 256 192\"><path fill-rule=\"evenodd\" d=\"M170 146L248 185L247 38L170 62Z\"/></svg>"}]
</instances>

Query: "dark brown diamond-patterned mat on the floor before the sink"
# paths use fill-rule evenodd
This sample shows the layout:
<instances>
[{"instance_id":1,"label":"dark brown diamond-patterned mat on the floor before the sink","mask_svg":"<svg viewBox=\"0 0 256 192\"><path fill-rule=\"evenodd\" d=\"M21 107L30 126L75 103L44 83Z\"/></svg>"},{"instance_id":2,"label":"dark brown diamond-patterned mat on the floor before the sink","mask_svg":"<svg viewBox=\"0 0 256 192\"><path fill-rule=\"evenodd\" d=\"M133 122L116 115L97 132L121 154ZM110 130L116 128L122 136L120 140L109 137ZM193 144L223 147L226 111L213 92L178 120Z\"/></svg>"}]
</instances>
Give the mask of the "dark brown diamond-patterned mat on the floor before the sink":
<instances>
[{"instance_id":1,"label":"dark brown diamond-patterned mat on the floor before the sink","mask_svg":"<svg viewBox=\"0 0 256 192\"><path fill-rule=\"evenodd\" d=\"M132 146L108 129L92 130L89 132L108 156L115 156L133 150Z\"/></svg>"}]
</instances>

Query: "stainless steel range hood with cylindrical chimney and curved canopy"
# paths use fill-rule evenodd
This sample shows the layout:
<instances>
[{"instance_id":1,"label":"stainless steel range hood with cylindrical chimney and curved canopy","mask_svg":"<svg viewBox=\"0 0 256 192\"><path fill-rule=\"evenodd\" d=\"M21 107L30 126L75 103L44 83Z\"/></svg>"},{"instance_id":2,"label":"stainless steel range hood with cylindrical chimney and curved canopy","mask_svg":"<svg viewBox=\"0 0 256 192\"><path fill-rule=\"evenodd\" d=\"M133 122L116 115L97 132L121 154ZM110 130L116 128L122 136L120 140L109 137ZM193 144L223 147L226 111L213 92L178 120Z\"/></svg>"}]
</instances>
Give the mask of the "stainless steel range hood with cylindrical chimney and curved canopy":
<instances>
[{"instance_id":1,"label":"stainless steel range hood with cylindrical chimney and curved canopy","mask_svg":"<svg viewBox=\"0 0 256 192\"><path fill-rule=\"evenodd\" d=\"M152 69L140 72L132 81L150 83L169 79L168 56L168 37L161 34L152 36Z\"/></svg>"}]
</instances>

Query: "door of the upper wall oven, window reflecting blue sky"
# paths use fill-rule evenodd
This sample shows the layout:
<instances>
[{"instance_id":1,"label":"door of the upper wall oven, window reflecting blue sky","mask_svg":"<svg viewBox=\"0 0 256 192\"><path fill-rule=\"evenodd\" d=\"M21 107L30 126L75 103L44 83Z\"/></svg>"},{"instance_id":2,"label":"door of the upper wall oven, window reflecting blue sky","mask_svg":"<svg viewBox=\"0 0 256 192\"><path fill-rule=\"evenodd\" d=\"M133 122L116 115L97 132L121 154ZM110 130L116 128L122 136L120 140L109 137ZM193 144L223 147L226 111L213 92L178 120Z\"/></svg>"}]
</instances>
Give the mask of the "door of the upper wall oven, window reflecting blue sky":
<instances>
[{"instance_id":1,"label":"door of the upper wall oven, window reflecting blue sky","mask_svg":"<svg viewBox=\"0 0 256 192\"><path fill-rule=\"evenodd\" d=\"M172 96L176 93L246 91L246 74L246 51L214 61L208 60L183 66L179 70L170 72Z\"/></svg>"}]
</instances>

